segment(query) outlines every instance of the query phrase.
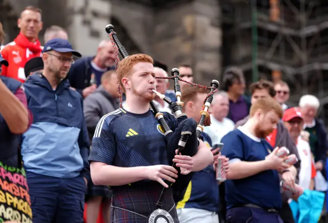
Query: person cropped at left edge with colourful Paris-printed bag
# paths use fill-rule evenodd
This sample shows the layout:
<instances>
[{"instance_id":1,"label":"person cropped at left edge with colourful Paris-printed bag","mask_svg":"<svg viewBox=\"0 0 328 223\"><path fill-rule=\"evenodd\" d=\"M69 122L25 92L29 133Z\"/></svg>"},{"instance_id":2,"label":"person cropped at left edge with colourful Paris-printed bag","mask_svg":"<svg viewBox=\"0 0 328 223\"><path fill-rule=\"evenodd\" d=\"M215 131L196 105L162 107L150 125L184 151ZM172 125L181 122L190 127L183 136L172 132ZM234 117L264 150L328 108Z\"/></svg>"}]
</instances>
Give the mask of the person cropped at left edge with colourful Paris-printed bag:
<instances>
[{"instance_id":1,"label":"person cropped at left edge with colourful Paris-printed bag","mask_svg":"<svg viewBox=\"0 0 328 223\"><path fill-rule=\"evenodd\" d=\"M8 66L8 62L0 54L0 73L2 65ZM18 149L22 133L32 119L22 83L0 76L0 194L7 198L0 199L1 222L32 222L30 196ZM22 205L9 202L10 199L19 200Z\"/></svg>"}]
</instances>

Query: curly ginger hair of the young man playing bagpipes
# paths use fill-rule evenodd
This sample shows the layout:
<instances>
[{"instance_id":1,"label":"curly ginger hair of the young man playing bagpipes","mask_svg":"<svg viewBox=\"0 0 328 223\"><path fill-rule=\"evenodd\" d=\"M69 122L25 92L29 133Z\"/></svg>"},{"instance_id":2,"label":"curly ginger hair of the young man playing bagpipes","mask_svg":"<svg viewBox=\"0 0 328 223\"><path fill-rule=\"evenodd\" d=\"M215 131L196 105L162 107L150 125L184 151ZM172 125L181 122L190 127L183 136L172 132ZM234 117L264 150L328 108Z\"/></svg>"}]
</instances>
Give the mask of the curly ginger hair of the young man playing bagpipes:
<instances>
[{"instance_id":1,"label":"curly ginger hair of the young man playing bagpipes","mask_svg":"<svg viewBox=\"0 0 328 223\"><path fill-rule=\"evenodd\" d=\"M119 62L117 68L117 77L118 77L119 86L122 88L124 93L125 93L125 88L122 84L122 78L128 77L131 73L132 67L137 63L154 64L154 60L149 55L138 53L128 56L127 58L124 58Z\"/></svg>"}]
</instances>

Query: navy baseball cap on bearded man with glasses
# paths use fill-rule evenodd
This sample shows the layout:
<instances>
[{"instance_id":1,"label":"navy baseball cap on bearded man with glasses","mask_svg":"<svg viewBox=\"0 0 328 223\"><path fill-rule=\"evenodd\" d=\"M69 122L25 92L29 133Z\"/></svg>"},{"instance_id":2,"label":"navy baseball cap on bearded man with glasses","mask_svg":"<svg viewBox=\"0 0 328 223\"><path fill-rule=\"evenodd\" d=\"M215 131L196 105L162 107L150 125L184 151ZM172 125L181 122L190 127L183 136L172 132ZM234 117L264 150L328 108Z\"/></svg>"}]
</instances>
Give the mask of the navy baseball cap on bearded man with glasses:
<instances>
[{"instance_id":1,"label":"navy baseball cap on bearded man with glasses","mask_svg":"<svg viewBox=\"0 0 328 223\"><path fill-rule=\"evenodd\" d=\"M82 55L73 50L72 48L72 44L70 44L70 42L68 42L68 40L66 39L61 39L61 38L54 38L54 39L50 39L44 46L42 52L49 52L49 51L57 51L59 53L68 53L68 52L72 52L74 56L77 57L81 57Z\"/></svg>"}]
</instances>

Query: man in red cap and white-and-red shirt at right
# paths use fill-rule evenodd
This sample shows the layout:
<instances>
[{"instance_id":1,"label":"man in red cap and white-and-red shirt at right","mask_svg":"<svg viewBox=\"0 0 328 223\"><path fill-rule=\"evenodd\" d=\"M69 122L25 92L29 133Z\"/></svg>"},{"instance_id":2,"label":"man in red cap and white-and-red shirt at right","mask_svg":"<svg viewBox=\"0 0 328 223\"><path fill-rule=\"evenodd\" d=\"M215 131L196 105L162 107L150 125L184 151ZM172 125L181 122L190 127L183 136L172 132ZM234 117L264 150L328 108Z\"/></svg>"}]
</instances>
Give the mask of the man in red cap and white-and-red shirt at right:
<instances>
[{"instance_id":1,"label":"man in red cap and white-and-red shirt at right","mask_svg":"<svg viewBox=\"0 0 328 223\"><path fill-rule=\"evenodd\" d=\"M303 140L300 135L304 124L302 113L296 107L289 108L285 110L282 120L284 121L285 127L288 129L295 142L296 148L298 150L298 155L301 159L299 186L303 187L304 189L313 190L316 170L311 155L310 145L307 141Z\"/></svg>"}]
</instances>

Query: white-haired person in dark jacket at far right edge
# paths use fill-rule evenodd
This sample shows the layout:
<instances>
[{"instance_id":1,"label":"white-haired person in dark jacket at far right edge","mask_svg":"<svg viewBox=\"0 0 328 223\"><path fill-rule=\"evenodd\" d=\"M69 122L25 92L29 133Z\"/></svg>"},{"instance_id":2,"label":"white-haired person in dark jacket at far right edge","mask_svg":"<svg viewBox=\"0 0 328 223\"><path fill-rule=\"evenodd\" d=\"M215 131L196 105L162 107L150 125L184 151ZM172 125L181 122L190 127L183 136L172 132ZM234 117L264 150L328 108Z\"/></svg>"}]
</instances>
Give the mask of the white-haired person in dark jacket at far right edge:
<instances>
[{"instance_id":1,"label":"white-haired person in dark jacket at far right edge","mask_svg":"<svg viewBox=\"0 0 328 223\"><path fill-rule=\"evenodd\" d=\"M316 118L320 107L319 100L313 95L303 95L299 100L299 107L304 118L304 130L309 132L309 144L314 156L316 170L326 177L325 163L328 142L323 121Z\"/></svg>"}]
</instances>

